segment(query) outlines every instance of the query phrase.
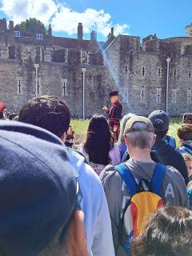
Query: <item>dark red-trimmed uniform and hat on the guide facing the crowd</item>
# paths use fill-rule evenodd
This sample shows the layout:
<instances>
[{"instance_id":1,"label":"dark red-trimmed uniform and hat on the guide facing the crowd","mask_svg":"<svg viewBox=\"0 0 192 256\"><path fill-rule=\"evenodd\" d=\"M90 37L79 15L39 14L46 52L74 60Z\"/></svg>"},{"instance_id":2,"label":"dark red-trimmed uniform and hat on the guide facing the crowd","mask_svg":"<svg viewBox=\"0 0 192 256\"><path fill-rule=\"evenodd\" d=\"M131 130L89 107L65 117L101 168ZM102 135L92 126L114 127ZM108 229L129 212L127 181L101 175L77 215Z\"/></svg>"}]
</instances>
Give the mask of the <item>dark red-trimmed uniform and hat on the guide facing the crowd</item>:
<instances>
[{"instance_id":1,"label":"dark red-trimmed uniform and hat on the guide facing the crowd","mask_svg":"<svg viewBox=\"0 0 192 256\"><path fill-rule=\"evenodd\" d=\"M118 95L117 91L111 92L110 97ZM119 127L120 127L120 120L122 119L122 104L121 102L117 101L113 103L110 109L106 110L106 113L109 114L109 124L111 130L116 131L114 132L115 138L118 139L119 134Z\"/></svg>"}]
</instances>

